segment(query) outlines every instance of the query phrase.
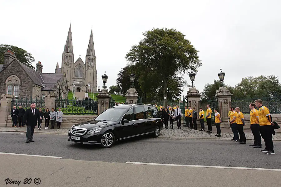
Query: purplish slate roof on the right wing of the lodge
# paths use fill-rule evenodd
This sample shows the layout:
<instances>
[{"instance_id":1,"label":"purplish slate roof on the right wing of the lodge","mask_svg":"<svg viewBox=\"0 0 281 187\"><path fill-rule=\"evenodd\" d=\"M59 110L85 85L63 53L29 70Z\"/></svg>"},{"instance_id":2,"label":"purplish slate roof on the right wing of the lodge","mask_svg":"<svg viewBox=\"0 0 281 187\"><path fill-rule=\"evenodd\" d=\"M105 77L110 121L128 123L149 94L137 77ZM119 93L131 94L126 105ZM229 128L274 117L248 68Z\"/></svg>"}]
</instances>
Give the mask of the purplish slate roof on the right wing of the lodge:
<instances>
[{"instance_id":1,"label":"purplish slate roof on the right wing of the lodge","mask_svg":"<svg viewBox=\"0 0 281 187\"><path fill-rule=\"evenodd\" d=\"M50 90L56 90L57 87L57 81L60 81L62 79L63 74L57 74L57 73L41 73L41 76L44 83L44 88L42 90L44 91L50 91Z\"/></svg>"}]
</instances>

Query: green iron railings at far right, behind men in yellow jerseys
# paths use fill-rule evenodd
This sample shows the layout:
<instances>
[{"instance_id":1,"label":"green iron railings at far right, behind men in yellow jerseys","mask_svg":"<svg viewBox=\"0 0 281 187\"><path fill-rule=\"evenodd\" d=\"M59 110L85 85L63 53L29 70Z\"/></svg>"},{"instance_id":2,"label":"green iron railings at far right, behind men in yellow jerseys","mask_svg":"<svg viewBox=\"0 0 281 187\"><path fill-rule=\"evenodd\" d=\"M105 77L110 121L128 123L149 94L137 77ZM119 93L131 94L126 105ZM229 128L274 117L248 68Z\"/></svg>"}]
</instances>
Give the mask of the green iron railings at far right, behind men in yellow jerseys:
<instances>
[{"instance_id":1,"label":"green iron railings at far right, behind men in yellow jerseys","mask_svg":"<svg viewBox=\"0 0 281 187\"><path fill-rule=\"evenodd\" d=\"M249 104L255 103L255 100L261 99L263 105L266 106L270 114L281 114L281 96L270 98L247 98L247 99L231 99L231 106L239 107L240 111L244 114L249 114ZM259 109L259 108L257 108Z\"/></svg>"}]
</instances>

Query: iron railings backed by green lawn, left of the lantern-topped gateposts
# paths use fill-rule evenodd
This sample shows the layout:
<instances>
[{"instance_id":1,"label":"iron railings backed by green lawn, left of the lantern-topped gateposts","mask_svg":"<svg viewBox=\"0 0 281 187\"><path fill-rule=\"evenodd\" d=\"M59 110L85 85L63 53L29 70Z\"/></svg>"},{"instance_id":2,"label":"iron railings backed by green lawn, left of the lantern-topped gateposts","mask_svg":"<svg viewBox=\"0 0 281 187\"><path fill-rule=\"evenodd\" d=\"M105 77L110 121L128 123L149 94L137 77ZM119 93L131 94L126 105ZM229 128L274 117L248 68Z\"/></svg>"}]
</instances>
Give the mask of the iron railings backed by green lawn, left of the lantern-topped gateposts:
<instances>
[{"instance_id":1,"label":"iron railings backed by green lawn, left of the lantern-topped gateposts","mask_svg":"<svg viewBox=\"0 0 281 187\"><path fill-rule=\"evenodd\" d=\"M55 110L61 111L65 115L96 115L98 114L98 102L92 99L73 100L57 99Z\"/></svg>"}]
</instances>

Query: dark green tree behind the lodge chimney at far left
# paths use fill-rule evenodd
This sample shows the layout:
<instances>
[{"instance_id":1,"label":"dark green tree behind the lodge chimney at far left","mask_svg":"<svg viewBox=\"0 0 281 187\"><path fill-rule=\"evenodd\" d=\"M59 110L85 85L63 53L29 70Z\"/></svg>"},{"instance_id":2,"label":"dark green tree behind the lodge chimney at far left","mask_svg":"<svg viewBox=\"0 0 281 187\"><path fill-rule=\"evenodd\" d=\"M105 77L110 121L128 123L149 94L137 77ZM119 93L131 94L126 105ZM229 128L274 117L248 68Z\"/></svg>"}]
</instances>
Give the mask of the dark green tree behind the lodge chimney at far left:
<instances>
[{"instance_id":1,"label":"dark green tree behind the lodge chimney at far left","mask_svg":"<svg viewBox=\"0 0 281 187\"><path fill-rule=\"evenodd\" d=\"M0 45L0 64L4 64L4 53L8 50L12 51L17 57L17 60L19 60L22 64L27 65L28 67L35 70L35 68L31 65L31 63L35 61L34 57L26 50L23 50L22 48L18 48L16 46L4 44Z\"/></svg>"}]
</instances>

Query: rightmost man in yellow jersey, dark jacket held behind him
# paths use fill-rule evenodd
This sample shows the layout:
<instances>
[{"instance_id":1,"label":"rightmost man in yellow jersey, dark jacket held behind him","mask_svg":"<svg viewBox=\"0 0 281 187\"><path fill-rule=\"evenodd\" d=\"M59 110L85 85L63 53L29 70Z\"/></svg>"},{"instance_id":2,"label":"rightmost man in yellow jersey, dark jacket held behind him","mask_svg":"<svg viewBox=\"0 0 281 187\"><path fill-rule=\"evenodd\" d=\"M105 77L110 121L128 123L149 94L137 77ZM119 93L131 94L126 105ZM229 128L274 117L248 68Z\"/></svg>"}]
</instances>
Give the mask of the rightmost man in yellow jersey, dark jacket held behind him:
<instances>
[{"instance_id":1,"label":"rightmost man in yellow jersey, dark jacket held behind him","mask_svg":"<svg viewBox=\"0 0 281 187\"><path fill-rule=\"evenodd\" d=\"M263 101L261 99L255 100L255 105L259 107L259 111L258 111L259 131L265 143L265 149L260 151L265 152L268 155L273 155L275 153L273 149L273 141L272 141L272 133L271 133L273 129L272 125L274 125L274 123L272 123L272 117L269 113L269 109L263 105Z\"/></svg>"}]
</instances>

